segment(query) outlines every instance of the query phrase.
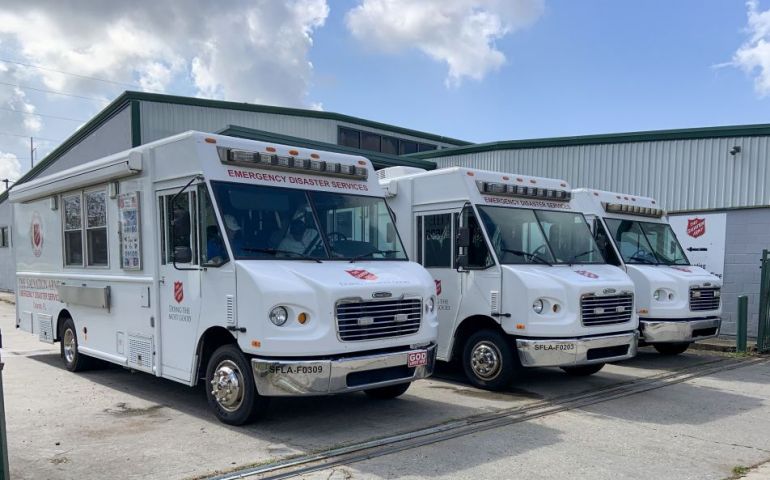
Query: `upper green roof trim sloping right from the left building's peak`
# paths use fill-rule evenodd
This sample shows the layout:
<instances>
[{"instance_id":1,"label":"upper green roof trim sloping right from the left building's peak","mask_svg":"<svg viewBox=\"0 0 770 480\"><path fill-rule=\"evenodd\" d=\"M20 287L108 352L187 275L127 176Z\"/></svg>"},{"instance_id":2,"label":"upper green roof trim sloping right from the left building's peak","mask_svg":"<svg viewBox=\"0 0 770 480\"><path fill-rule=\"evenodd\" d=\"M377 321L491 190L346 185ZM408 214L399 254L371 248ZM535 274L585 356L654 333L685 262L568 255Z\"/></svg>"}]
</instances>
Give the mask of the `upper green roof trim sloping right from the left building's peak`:
<instances>
[{"instance_id":1,"label":"upper green roof trim sloping right from the left building's peak","mask_svg":"<svg viewBox=\"0 0 770 480\"><path fill-rule=\"evenodd\" d=\"M132 92L132 91L125 92L123 96L130 100L141 100L145 102L171 103L174 105L223 108L228 110L243 110L246 112L275 113L278 115L290 115L295 117L337 120L340 122L348 122L348 123L354 123L356 125L367 126L370 128L377 128L379 130L387 130L389 132L401 133L403 135L411 135L413 137L420 137L426 140L433 140L436 142L452 143L454 145L460 145L460 146L471 145L471 142L466 142L465 140L458 140L456 138L444 137L442 135L436 135L433 133L420 132L418 130L412 130L410 128L398 127L396 125L389 125L387 123L375 122L373 120L366 120L363 118L352 117L350 115L343 115L341 113L325 112L322 110L305 110L302 108L274 107L271 105L256 105L252 103L226 102L224 100L208 100L204 98L180 97L176 95L165 95L165 94L159 94L159 93L145 93L145 92Z\"/></svg>"}]
</instances>

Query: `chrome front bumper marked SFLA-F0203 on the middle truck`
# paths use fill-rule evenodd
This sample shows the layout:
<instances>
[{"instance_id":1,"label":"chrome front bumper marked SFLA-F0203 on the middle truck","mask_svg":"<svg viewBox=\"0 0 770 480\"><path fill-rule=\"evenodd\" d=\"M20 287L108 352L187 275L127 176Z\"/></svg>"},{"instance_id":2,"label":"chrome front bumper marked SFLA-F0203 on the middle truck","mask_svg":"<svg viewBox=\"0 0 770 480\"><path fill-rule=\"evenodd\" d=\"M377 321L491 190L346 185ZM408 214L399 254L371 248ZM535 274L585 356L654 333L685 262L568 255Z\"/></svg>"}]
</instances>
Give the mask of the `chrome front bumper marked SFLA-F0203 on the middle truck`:
<instances>
[{"instance_id":1,"label":"chrome front bumper marked SFLA-F0203 on the middle truck","mask_svg":"<svg viewBox=\"0 0 770 480\"><path fill-rule=\"evenodd\" d=\"M616 362L636 355L638 332L581 338L517 338L525 367L572 367Z\"/></svg>"}]
</instances>

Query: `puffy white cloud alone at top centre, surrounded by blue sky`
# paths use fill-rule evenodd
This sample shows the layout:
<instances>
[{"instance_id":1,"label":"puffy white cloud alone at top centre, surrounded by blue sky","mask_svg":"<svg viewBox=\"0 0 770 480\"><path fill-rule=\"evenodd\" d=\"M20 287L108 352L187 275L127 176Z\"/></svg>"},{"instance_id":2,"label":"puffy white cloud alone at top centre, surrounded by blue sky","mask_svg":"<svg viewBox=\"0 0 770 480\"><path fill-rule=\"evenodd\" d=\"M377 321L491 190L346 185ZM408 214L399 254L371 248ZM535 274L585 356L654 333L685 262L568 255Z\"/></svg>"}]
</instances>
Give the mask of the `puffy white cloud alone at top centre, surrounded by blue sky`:
<instances>
[{"instance_id":1,"label":"puffy white cloud alone at top centre, surrounded by blue sky","mask_svg":"<svg viewBox=\"0 0 770 480\"><path fill-rule=\"evenodd\" d=\"M350 32L385 52L417 48L449 67L447 86L483 79L506 61L495 41L531 25L544 0L361 0Z\"/></svg>"}]
</instances>

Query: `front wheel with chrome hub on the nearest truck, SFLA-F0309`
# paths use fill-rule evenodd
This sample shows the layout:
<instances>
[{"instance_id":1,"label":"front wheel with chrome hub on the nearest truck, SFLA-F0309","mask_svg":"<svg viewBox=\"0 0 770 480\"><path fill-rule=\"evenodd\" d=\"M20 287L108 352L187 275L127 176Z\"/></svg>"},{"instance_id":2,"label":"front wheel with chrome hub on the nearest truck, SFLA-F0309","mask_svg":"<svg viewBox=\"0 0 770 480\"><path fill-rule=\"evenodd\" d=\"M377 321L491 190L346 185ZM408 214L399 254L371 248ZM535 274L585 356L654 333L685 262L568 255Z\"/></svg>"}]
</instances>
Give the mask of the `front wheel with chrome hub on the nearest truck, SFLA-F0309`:
<instances>
[{"instance_id":1,"label":"front wheel with chrome hub on the nearest truck, SFLA-F0309","mask_svg":"<svg viewBox=\"0 0 770 480\"><path fill-rule=\"evenodd\" d=\"M206 397L220 422L244 425L265 413L269 399L257 393L248 358L235 345L216 349L206 367Z\"/></svg>"}]
</instances>

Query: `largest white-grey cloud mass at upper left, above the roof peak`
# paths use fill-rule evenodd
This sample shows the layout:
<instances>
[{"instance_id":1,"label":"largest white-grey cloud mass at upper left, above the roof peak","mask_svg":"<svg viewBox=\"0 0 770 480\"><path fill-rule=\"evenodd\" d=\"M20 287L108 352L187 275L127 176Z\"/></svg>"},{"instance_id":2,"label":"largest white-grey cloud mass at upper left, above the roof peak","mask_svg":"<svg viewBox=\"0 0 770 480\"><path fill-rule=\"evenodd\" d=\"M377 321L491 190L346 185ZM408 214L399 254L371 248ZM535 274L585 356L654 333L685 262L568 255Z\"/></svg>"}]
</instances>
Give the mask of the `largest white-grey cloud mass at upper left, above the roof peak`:
<instances>
[{"instance_id":1,"label":"largest white-grey cloud mass at upper left, above the roof peak","mask_svg":"<svg viewBox=\"0 0 770 480\"><path fill-rule=\"evenodd\" d=\"M192 82L201 96L307 106L307 56L328 13L326 0L6 0L0 42L32 64L146 90ZM55 90L110 98L126 88L34 72Z\"/></svg>"}]
</instances>

